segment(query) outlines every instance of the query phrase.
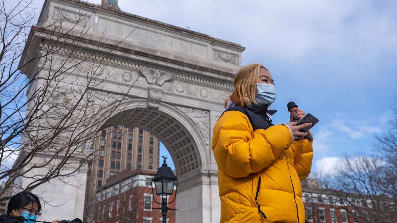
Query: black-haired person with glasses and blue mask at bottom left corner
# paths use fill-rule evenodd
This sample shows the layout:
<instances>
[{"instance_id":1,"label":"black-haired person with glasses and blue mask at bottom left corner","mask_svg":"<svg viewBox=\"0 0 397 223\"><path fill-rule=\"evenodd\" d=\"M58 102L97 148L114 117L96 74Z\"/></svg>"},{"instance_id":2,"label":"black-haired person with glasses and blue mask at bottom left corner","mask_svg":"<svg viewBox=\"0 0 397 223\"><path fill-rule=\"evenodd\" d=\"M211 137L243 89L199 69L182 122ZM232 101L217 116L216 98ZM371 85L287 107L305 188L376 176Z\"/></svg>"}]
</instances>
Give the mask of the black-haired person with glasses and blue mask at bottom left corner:
<instances>
[{"instance_id":1,"label":"black-haired person with glasses and blue mask at bottom left corner","mask_svg":"<svg viewBox=\"0 0 397 223\"><path fill-rule=\"evenodd\" d=\"M7 214L1 215L0 222L15 223L25 219L23 223L35 223L37 217L40 216L40 211L40 200L35 194L27 191L19 192L10 199ZM52 223L56 222L59 222L59 220L52 221Z\"/></svg>"}]
</instances>

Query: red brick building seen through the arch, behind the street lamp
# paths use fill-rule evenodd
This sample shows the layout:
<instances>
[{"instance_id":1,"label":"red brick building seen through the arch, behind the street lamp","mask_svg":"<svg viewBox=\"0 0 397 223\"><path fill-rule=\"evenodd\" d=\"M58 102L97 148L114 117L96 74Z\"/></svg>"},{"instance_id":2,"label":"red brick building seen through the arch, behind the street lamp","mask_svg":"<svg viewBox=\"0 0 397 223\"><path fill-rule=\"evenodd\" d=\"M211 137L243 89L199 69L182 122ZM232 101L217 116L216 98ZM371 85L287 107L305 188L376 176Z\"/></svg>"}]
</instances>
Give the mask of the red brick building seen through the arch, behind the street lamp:
<instances>
[{"instance_id":1,"label":"red brick building seen through the arch, behind the street lamp","mask_svg":"<svg viewBox=\"0 0 397 223\"><path fill-rule=\"evenodd\" d=\"M91 221L95 223L159 223L162 222L160 196L152 193L152 178L157 170L125 170L108 179L106 185L96 191L96 203L91 210ZM153 185L154 186L154 185ZM156 191L155 188L153 188ZM171 202L175 190L168 197ZM169 204L175 208L176 200ZM175 211L167 214L167 222L175 223Z\"/></svg>"}]
</instances>

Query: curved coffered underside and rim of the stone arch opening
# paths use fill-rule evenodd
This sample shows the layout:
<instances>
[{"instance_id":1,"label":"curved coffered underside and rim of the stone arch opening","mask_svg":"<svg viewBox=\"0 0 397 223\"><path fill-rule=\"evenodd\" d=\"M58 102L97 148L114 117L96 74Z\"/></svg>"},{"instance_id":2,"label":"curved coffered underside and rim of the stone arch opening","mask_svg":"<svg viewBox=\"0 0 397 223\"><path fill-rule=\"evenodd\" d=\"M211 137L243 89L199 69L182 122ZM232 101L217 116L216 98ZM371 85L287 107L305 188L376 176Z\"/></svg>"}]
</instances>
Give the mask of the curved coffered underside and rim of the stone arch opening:
<instances>
[{"instance_id":1,"label":"curved coffered underside and rim of the stone arch opening","mask_svg":"<svg viewBox=\"0 0 397 223\"><path fill-rule=\"evenodd\" d=\"M182 179L192 172L210 169L208 136L204 138L205 135L197 128L198 124L181 112L183 107L161 102L156 110L147 108L146 102L147 99L126 100L113 112L108 124L140 127L152 133L169 150L176 174ZM195 111L206 113L208 117L208 111ZM206 127L209 128L208 125Z\"/></svg>"}]
</instances>

